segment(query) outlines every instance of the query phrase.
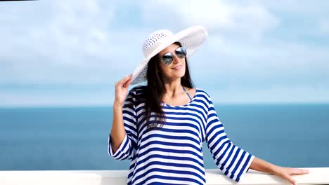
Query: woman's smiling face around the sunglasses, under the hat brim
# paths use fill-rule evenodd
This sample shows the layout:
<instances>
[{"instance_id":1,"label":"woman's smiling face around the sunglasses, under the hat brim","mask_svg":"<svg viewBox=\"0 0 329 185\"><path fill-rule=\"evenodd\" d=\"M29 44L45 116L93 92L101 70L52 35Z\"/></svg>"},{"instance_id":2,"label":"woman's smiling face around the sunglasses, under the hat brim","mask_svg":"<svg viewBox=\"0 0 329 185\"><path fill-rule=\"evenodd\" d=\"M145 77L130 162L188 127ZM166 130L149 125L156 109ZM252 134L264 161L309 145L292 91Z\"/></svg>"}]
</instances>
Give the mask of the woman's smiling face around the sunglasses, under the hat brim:
<instances>
[{"instance_id":1,"label":"woman's smiling face around the sunglasses, under the hat brim","mask_svg":"<svg viewBox=\"0 0 329 185\"><path fill-rule=\"evenodd\" d=\"M160 51L158 55L160 56L159 61L159 67L160 71L162 73L162 76L164 78L167 78L167 80L172 81L177 78L181 78L185 75L185 57L179 58L177 57L175 50L176 48L179 48L179 45L173 43L172 45L168 46L167 48L164 48L164 50ZM162 55L166 53L172 53L174 55L174 60L171 64L166 65L161 61Z\"/></svg>"}]
</instances>

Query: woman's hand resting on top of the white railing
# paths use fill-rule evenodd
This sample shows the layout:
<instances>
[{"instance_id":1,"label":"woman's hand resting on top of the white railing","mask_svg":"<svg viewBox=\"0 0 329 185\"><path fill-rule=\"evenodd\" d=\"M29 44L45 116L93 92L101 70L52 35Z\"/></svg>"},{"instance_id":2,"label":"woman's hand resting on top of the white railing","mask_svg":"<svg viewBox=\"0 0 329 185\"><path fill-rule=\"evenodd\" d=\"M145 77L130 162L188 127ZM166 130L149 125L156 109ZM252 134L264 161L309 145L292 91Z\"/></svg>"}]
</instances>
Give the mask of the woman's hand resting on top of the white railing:
<instances>
[{"instance_id":1,"label":"woman's hand resting on top of the white railing","mask_svg":"<svg viewBox=\"0 0 329 185\"><path fill-rule=\"evenodd\" d=\"M276 166L276 175L290 181L291 184L296 184L295 179L292 179L292 175L297 174L308 174L309 170L307 169L300 169L300 168L293 168L293 167L280 167Z\"/></svg>"}]
</instances>

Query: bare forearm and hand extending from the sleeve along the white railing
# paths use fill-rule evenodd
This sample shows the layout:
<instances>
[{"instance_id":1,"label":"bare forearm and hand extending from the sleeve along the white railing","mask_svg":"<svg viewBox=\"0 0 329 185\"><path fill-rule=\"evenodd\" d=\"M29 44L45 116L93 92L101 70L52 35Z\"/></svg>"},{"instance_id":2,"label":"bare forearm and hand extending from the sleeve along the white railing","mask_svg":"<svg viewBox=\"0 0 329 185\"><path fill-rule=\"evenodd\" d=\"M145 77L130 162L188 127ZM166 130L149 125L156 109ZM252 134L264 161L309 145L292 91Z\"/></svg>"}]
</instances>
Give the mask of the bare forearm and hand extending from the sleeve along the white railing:
<instances>
[{"instance_id":1,"label":"bare forearm and hand extending from the sleeve along the white railing","mask_svg":"<svg viewBox=\"0 0 329 185\"><path fill-rule=\"evenodd\" d=\"M250 169L257 170L259 172L266 172L270 174L275 174L278 177L286 179L290 181L291 184L296 184L296 181L292 179L292 175L295 174L307 174L309 170L307 169L299 169L292 167L280 167L278 165L273 165L271 163L266 162L260 158L254 157L252 163L250 165Z\"/></svg>"}]
</instances>

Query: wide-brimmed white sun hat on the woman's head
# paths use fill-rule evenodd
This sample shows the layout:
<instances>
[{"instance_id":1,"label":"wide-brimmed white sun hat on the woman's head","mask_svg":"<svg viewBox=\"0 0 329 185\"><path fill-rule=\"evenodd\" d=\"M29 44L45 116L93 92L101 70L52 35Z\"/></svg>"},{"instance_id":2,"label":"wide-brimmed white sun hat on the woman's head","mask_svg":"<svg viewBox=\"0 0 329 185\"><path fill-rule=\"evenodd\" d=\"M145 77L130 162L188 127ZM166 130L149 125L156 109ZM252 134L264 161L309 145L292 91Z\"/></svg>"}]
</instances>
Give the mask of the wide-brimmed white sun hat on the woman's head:
<instances>
[{"instance_id":1,"label":"wide-brimmed white sun hat on the woman's head","mask_svg":"<svg viewBox=\"0 0 329 185\"><path fill-rule=\"evenodd\" d=\"M145 58L131 76L131 84L137 84L147 80L148 61L157 55L157 53L160 53L161 50L164 50L164 48L167 48L174 42L179 42L181 46L186 48L186 57L189 58L198 50L199 46L207 38L207 35L206 29L202 26L188 27L177 34L173 34L167 29L160 29L153 32L143 43L142 50Z\"/></svg>"}]
</instances>

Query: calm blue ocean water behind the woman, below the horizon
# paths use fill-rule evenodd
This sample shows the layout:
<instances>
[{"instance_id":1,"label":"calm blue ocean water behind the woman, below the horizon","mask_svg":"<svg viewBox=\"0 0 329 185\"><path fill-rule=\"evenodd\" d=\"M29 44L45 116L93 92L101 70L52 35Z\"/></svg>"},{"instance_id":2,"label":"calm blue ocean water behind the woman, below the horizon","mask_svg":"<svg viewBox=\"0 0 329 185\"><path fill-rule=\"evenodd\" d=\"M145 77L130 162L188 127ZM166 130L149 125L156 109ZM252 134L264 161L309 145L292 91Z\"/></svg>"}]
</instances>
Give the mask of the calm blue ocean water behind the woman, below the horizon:
<instances>
[{"instance_id":1,"label":"calm blue ocean water behind the woman, below the horizon","mask_svg":"<svg viewBox=\"0 0 329 185\"><path fill-rule=\"evenodd\" d=\"M276 165L329 167L329 104L216 105L240 148ZM0 108L0 170L128 170L108 156L112 107ZM207 144L206 168L214 165Z\"/></svg>"}]
</instances>

